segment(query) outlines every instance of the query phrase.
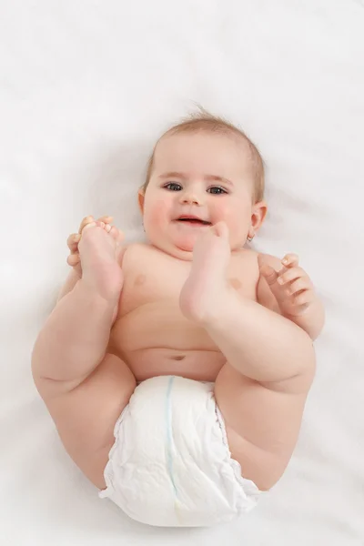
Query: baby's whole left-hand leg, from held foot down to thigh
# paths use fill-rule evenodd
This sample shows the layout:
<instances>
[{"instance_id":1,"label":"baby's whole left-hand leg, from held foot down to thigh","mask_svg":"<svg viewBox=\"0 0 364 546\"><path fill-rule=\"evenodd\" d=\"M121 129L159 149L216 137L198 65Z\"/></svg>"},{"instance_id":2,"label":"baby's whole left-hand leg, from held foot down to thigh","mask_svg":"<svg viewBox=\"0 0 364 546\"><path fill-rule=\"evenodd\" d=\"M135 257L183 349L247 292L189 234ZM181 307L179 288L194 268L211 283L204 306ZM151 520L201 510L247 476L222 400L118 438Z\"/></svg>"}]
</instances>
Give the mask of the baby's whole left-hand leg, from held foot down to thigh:
<instances>
[{"instance_id":1,"label":"baby's whole left-hand leg, from held foot down to thigh","mask_svg":"<svg viewBox=\"0 0 364 546\"><path fill-rule=\"evenodd\" d=\"M124 362L106 355L121 288L115 252L101 227L90 227L84 237L83 278L47 319L32 370L66 450L101 488L113 428L136 380Z\"/></svg>"}]
</instances>

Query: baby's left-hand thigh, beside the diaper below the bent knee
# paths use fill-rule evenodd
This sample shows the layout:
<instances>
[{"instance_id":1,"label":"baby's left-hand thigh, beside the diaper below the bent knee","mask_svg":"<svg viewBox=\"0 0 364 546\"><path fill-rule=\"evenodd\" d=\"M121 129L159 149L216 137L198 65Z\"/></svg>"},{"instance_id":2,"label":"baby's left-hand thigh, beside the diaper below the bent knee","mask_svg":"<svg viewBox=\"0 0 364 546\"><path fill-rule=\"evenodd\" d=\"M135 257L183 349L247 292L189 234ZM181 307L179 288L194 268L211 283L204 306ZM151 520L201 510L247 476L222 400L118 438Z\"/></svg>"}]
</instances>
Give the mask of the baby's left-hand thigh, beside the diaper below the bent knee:
<instances>
[{"instance_id":1,"label":"baby's left-hand thigh, beside the diaper below the bent knee","mask_svg":"<svg viewBox=\"0 0 364 546\"><path fill-rule=\"evenodd\" d=\"M135 389L136 379L126 363L106 354L76 389L45 400L66 451L99 489L106 487L104 470L116 420Z\"/></svg>"}]
</instances>

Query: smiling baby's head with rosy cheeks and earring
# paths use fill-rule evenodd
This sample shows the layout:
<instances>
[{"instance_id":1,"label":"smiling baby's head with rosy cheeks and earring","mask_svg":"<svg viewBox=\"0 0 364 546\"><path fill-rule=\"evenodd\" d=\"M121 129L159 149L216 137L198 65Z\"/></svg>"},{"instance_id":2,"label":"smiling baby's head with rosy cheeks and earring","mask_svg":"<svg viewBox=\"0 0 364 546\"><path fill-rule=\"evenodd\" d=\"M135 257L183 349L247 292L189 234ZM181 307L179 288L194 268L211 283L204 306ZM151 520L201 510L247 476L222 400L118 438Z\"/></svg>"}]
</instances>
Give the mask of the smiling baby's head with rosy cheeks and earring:
<instances>
[{"instance_id":1,"label":"smiling baby's head with rosy cheeks and earring","mask_svg":"<svg viewBox=\"0 0 364 546\"><path fill-rule=\"evenodd\" d=\"M221 220L230 248L241 248L266 216L263 198L257 147L238 127L206 112L159 138L139 191L149 242L181 259L192 258L201 229Z\"/></svg>"}]
</instances>

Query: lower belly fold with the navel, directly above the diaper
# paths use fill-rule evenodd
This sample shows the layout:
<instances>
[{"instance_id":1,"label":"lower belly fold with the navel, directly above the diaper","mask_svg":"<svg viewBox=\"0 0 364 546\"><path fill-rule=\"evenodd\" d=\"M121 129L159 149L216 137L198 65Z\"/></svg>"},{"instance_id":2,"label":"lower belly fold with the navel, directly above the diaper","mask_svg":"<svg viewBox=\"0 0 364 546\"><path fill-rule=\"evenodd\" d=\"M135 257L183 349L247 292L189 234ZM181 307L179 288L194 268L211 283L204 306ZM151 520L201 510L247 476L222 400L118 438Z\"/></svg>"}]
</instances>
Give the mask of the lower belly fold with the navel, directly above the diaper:
<instances>
[{"instance_id":1,"label":"lower belly fold with the navel, directly above the diaper","mask_svg":"<svg viewBox=\"0 0 364 546\"><path fill-rule=\"evenodd\" d=\"M127 355L127 365L136 381L161 375L176 375L198 381L215 381L225 364L217 351L177 349L139 349Z\"/></svg>"}]
</instances>

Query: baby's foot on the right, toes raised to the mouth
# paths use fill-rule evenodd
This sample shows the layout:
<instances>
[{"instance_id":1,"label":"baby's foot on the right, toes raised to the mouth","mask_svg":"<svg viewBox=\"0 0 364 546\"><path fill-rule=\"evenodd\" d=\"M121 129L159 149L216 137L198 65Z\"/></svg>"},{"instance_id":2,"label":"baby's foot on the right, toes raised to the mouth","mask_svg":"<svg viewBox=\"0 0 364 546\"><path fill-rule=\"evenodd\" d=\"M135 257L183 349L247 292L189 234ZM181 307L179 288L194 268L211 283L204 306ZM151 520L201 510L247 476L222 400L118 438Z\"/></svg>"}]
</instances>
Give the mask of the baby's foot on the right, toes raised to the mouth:
<instances>
[{"instance_id":1,"label":"baby's foot on the right, toes raised to the mouth","mask_svg":"<svg viewBox=\"0 0 364 546\"><path fill-rule=\"evenodd\" d=\"M179 298L187 319L204 323L215 316L227 292L229 261L227 225L219 222L201 234L193 249L191 272Z\"/></svg>"}]
</instances>

